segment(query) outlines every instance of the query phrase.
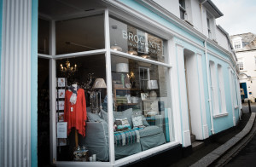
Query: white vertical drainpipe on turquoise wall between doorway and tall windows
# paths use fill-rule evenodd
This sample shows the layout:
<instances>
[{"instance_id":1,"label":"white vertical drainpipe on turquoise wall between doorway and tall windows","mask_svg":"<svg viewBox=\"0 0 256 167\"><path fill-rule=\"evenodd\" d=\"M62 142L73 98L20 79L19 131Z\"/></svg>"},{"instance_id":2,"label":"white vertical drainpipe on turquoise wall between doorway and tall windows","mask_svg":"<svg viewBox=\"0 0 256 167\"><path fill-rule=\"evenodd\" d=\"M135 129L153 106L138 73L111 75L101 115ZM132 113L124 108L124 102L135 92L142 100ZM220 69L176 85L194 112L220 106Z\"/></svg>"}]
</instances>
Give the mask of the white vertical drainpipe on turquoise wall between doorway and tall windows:
<instances>
[{"instance_id":1,"label":"white vertical drainpipe on turquoise wall between doorway and tall windows","mask_svg":"<svg viewBox=\"0 0 256 167\"><path fill-rule=\"evenodd\" d=\"M206 64L207 64L207 83L208 83L208 95L209 95L209 106L210 106L210 115L211 115L211 132L214 134L214 128L213 128L213 117L212 117L212 93L211 93L211 85L210 85L210 72L209 72L209 60L208 60L208 54L207 54L207 39L204 42L205 45L205 54L206 54Z\"/></svg>"}]
</instances>

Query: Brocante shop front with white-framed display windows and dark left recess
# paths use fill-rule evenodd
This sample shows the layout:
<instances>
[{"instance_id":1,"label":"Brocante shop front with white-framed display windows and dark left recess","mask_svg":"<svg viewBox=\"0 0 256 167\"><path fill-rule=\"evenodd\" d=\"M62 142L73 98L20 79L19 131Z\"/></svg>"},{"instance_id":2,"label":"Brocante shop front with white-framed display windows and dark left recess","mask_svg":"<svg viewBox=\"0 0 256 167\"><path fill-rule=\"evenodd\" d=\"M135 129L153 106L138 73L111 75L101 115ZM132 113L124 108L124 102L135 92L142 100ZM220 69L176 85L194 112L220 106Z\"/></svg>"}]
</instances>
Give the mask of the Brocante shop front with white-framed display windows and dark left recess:
<instances>
[{"instance_id":1,"label":"Brocante shop front with white-framed display windows and dark left recess","mask_svg":"<svg viewBox=\"0 0 256 167\"><path fill-rule=\"evenodd\" d=\"M38 164L119 166L179 145L170 35L98 1L38 11Z\"/></svg>"}]
</instances>

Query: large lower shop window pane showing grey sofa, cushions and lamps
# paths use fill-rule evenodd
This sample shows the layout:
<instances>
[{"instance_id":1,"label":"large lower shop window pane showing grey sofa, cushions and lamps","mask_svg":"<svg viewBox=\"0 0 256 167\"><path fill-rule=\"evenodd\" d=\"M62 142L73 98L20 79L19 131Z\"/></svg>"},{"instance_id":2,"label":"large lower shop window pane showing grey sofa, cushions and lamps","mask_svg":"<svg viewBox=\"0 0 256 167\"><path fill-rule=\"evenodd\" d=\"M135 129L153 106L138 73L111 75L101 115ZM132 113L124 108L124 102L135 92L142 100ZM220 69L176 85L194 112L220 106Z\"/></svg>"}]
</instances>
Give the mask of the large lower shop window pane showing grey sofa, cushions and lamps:
<instances>
[{"instance_id":1,"label":"large lower shop window pane showing grey sofa, cushions and lamps","mask_svg":"<svg viewBox=\"0 0 256 167\"><path fill-rule=\"evenodd\" d=\"M168 69L116 55L111 63L115 158L173 141Z\"/></svg>"}]
</instances>

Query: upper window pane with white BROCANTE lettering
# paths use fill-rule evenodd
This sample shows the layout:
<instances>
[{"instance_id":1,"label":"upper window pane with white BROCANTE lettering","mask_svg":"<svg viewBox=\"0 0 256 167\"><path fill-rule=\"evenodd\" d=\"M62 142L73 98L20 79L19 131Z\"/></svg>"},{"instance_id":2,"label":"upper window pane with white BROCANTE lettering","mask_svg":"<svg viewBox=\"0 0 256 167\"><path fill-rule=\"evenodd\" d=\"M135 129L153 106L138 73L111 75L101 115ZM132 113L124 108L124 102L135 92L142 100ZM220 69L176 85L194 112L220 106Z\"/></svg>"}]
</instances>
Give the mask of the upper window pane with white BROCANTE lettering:
<instances>
[{"instance_id":1,"label":"upper window pane with white BROCANTE lettering","mask_svg":"<svg viewBox=\"0 0 256 167\"><path fill-rule=\"evenodd\" d=\"M109 18L109 22L111 49L137 55L143 59L166 62L164 42L160 37L113 18Z\"/></svg>"}]
</instances>

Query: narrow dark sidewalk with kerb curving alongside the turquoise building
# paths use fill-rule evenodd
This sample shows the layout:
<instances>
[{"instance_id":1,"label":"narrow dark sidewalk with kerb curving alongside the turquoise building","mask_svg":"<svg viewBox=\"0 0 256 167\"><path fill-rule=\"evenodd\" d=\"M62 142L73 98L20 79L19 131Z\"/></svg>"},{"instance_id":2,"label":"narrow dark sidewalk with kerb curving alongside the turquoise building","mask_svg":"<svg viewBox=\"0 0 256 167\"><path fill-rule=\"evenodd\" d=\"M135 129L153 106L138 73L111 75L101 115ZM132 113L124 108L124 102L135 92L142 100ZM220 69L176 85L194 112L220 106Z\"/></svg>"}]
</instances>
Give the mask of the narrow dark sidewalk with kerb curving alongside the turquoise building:
<instances>
[{"instance_id":1,"label":"narrow dark sidewalk with kerb curving alongside the turquoise building","mask_svg":"<svg viewBox=\"0 0 256 167\"><path fill-rule=\"evenodd\" d=\"M256 103L255 103L256 104ZM254 115L255 113L253 113ZM199 150L196 150L194 153L190 154L187 158L182 158L177 163L172 164L172 166L190 166L194 164L194 166L207 166L207 164L211 164L212 159L218 158L216 150L221 151L225 150L228 147L231 147L231 144L228 146L227 143L232 142L234 137L239 134L247 125L249 119L251 117L250 112L243 112L241 115L241 121L239 124L234 128L234 130L230 130L229 132L219 135L210 141L209 143L205 144L205 147L202 147ZM253 119L254 120L254 119ZM237 139L236 139L237 140ZM234 142L233 142L234 143ZM225 144L225 145L224 145ZM224 149L223 149L224 148ZM213 154L211 154L213 153ZM197 164L195 164L197 163Z\"/></svg>"}]
</instances>

